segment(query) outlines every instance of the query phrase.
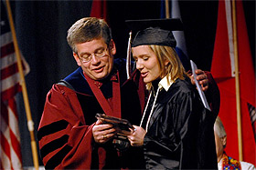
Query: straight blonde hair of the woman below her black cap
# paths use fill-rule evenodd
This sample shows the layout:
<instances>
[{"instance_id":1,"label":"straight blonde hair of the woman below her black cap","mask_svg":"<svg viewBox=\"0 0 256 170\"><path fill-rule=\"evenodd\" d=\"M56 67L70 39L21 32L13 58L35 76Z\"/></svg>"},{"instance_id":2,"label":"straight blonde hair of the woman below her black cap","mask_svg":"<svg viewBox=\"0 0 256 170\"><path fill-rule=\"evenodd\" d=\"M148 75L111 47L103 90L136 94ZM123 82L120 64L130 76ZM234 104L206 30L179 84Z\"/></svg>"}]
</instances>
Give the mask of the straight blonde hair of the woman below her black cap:
<instances>
[{"instance_id":1,"label":"straight blonde hair of the woman below her black cap","mask_svg":"<svg viewBox=\"0 0 256 170\"><path fill-rule=\"evenodd\" d=\"M164 45L149 45L149 48L155 53L157 57L157 62L160 65L161 78L164 78L166 75L170 76L171 80L176 80L180 78L184 80L184 75L187 75L176 50L170 46ZM165 66L165 59L169 61L169 65ZM167 78L167 81L169 79ZM170 83L170 82L168 82ZM147 89L152 87L151 83L146 85Z\"/></svg>"}]
</instances>

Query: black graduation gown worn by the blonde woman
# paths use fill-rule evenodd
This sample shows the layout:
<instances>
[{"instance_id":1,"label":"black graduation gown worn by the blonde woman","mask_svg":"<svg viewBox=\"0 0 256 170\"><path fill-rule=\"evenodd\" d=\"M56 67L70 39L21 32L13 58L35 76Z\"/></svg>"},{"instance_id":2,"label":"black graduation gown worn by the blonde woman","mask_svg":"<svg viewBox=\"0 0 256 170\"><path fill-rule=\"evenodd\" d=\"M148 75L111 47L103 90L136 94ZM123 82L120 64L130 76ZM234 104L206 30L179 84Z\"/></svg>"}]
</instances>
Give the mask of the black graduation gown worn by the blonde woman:
<instances>
[{"instance_id":1,"label":"black graduation gown worn by the blonde woman","mask_svg":"<svg viewBox=\"0 0 256 170\"><path fill-rule=\"evenodd\" d=\"M146 110L149 115L152 95ZM147 169L218 169L213 125L215 115L204 108L190 79L177 79L162 89L144 136ZM147 117L144 119L144 124Z\"/></svg>"}]
</instances>

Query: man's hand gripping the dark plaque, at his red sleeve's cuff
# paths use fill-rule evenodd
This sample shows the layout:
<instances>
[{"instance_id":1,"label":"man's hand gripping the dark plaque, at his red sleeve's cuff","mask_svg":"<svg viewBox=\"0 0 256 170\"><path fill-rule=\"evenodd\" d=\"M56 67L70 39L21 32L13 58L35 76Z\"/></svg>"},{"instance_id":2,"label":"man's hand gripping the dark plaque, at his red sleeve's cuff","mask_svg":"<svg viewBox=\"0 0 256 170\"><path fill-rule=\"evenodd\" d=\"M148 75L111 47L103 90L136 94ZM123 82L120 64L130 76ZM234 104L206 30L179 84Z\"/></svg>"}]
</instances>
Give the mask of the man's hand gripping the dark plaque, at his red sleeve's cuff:
<instances>
[{"instance_id":1,"label":"man's hand gripping the dark plaque, at his red sleeve's cuff","mask_svg":"<svg viewBox=\"0 0 256 170\"><path fill-rule=\"evenodd\" d=\"M99 144L104 144L109 141L115 133L116 130L112 128L111 124L102 124L101 120L98 120L92 127L94 141Z\"/></svg>"}]
</instances>

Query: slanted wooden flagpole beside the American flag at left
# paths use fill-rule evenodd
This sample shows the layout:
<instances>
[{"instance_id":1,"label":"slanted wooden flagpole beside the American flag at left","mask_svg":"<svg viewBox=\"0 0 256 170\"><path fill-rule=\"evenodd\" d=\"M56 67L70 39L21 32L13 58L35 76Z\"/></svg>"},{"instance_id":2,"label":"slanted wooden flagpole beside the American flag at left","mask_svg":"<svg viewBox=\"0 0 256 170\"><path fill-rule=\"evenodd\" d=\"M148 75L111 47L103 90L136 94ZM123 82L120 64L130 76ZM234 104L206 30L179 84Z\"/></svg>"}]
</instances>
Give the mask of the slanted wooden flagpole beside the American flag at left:
<instances>
[{"instance_id":1,"label":"slanted wooden flagpole beside the American flag at left","mask_svg":"<svg viewBox=\"0 0 256 170\"><path fill-rule=\"evenodd\" d=\"M14 39L17 67L18 67L18 72L19 72L20 79L21 79L20 84L22 87L22 95L23 95L26 114L27 114L27 127L28 127L28 130L30 133L30 138L31 138L33 161L34 161L35 168L38 170L39 165L38 165L38 156L37 156L37 143L35 141L35 135L34 135L34 123L33 123L31 112L30 112L30 106L29 106L28 97L27 97L26 81L25 81L25 76L23 73L20 51L19 51L19 48L17 45L15 25L14 25L14 21L13 21L13 16L12 16L9 0L6 0L6 7L7 7L7 13L8 13L8 18L9 18L9 22L10 22L10 28L11 28L11 32L12 32L13 39Z\"/></svg>"}]
</instances>

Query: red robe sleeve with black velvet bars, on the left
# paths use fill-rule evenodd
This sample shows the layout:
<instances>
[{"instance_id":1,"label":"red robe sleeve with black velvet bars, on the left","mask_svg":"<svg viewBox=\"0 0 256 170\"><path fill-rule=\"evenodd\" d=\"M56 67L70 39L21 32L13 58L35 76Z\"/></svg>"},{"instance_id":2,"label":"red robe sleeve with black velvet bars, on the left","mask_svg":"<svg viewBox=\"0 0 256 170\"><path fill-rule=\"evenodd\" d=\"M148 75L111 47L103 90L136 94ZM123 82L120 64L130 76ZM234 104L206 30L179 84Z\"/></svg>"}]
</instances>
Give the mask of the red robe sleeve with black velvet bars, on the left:
<instances>
[{"instance_id":1,"label":"red robe sleeve with black velvet bars, on the left","mask_svg":"<svg viewBox=\"0 0 256 170\"><path fill-rule=\"evenodd\" d=\"M91 127L85 124L82 109L72 105L80 105L76 94L65 86L53 85L37 133L40 155L47 169L91 167L92 136L88 133ZM80 153L76 151L78 148L82 148ZM81 155L88 155L83 165L70 165L72 159L80 160Z\"/></svg>"}]
</instances>

